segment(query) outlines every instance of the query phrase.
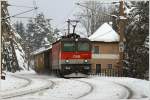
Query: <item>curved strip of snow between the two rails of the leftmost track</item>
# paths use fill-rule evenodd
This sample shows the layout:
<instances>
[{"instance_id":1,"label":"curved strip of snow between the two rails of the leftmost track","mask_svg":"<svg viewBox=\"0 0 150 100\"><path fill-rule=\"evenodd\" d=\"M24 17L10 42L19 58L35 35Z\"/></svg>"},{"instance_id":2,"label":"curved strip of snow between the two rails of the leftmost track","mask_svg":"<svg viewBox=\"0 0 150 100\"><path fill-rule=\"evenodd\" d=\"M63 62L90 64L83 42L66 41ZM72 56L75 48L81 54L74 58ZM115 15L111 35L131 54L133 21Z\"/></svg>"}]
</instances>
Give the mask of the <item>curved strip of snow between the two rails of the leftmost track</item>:
<instances>
[{"instance_id":1,"label":"curved strip of snow between the two rails of the leftmost track","mask_svg":"<svg viewBox=\"0 0 150 100\"><path fill-rule=\"evenodd\" d=\"M27 79L27 77L23 77L23 76L16 76L16 78ZM32 81L31 84L24 88L19 88L13 91L7 91L7 92L1 93L1 99L8 99L8 98L13 98L13 97L18 97L18 96L23 96L23 95L39 92L41 90L52 88L54 84L53 81L44 80L44 79L41 79L41 80L29 79L29 80Z\"/></svg>"}]
</instances>

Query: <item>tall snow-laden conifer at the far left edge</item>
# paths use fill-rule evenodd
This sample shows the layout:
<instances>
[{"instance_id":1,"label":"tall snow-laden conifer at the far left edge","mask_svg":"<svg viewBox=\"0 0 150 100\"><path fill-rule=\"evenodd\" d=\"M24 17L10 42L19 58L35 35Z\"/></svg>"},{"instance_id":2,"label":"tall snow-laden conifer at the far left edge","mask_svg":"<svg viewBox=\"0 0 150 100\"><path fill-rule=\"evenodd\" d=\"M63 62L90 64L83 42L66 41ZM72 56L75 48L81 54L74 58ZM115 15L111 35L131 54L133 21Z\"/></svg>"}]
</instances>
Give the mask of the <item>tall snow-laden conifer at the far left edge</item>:
<instances>
[{"instance_id":1,"label":"tall snow-laden conifer at the far left edge","mask_svg":"<svg viewBox=\"0 0 150 100\"><path fill-rule=\"evenodd\" d=\"M2 69L15 72L17 70L26 69L25 54L20 46L18 33L15 32L11 25L8 12L8 2L2 1Z\"/></svg>"}]
</instances>

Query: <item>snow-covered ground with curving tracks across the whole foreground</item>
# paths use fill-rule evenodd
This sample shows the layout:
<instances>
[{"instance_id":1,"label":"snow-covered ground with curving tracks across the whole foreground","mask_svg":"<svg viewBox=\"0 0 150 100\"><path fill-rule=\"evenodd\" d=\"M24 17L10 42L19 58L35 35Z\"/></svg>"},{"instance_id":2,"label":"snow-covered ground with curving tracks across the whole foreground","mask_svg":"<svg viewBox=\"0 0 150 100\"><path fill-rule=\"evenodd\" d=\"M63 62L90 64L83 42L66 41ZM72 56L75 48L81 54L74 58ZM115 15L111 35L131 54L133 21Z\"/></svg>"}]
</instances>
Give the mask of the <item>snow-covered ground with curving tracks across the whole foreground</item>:
<instances>
[{"instance_id":1,"label":"snow-covered ground with curving tracks across the whole foreground","mask_svg":"<svg viewBox=\"0 0 150 100\"><path fill-rule=\"evenodd\" d=\"M31 80L31 83L24 86L28 83L26 79ZM100 76L64 79L34 72L17 72L7 74L6 80L1 80L0 93L1 97L23 94L9 100L150 100L150 82Z\"/></svg>"}]
</instances>

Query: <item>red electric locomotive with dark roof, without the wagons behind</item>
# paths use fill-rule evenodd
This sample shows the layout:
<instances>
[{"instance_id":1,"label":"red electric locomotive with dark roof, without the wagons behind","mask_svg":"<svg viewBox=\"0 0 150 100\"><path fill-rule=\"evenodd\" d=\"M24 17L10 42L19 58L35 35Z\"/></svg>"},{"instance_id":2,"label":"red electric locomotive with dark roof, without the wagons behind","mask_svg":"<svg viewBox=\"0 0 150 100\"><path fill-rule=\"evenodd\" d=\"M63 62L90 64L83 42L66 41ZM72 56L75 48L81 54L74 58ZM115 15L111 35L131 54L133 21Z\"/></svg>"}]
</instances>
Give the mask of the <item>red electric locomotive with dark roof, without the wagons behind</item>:
<instances>
[{"instance_id":1,"label":"red electric locomotive with dark roof, without the wagons behind","mask_svg":"<svg viewBox=\"0 0 150 100\"><path fill-rule=\"evenodd\" d=\"M91 70L91 43L76 34L63 37L52 45L52 70L61 76Z\"/></svg>"}]
</instances>

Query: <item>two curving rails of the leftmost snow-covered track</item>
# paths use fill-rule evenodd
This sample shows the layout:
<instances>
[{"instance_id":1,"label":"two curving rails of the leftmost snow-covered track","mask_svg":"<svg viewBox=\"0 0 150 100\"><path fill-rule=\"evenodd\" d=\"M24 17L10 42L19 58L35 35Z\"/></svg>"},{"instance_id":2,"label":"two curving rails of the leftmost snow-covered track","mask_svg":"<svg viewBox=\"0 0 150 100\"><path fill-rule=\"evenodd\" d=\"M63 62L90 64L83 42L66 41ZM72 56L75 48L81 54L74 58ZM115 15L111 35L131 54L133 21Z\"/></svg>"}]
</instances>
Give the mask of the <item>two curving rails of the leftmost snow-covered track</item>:
<instances>
[{"instance_id":1,"label":"two curving rails of the leftmost snow-covered track","mask_svg":"<svg viewBox=\"0 0 150 100\"><path fill-rule=\"evenodd\" d=\"M22 78L23 79L28 79L26 77L20 77L20 76L15 76L15 77L16 78L21 78L21 79ZM29 81L29 83L24 85L24 87L19 88L16 91L13 91L11 93L7 93L7 94L4 94L4 95L1 95L1 99L9 99L9 98L14 98L14 97L24 96L24 95L36 93L36 92L39 92L39 91L44 91L46 89L53 88L53 86L54 86L54 82L53 81L47 80L47 84L44 85L44 86L41 86L41 87L38 87L38 88L35 88L35 89L32 89L32 88L25 89L27 86L32 84L32 80L31 79L28 79L28 81Z\"/></svg>"}]
</instances>

